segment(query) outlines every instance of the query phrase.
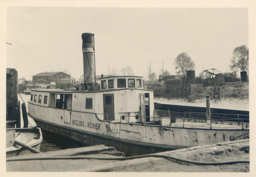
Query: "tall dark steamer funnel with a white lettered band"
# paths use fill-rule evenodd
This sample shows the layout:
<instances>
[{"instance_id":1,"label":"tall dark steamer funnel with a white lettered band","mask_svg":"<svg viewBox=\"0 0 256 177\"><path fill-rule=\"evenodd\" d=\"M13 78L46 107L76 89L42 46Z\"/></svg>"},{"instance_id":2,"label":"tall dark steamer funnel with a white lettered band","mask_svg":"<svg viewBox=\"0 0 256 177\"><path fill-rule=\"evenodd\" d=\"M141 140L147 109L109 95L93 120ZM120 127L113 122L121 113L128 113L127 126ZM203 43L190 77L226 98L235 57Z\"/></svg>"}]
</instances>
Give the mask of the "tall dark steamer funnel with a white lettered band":
<instances>
[{"instance_id":1,"label":"tall dark steamer funnel with a white lettered band","mask_svg":"<svg viewBox=\"0 0 256 177\"><path fill-rule=\"evenodd\" d=\"M84 82L88 85L94 83L94 46L93 46L93 34L83 33L82 34L82 51L83 51L83 73Z\"/></svg>"}]
</instances>

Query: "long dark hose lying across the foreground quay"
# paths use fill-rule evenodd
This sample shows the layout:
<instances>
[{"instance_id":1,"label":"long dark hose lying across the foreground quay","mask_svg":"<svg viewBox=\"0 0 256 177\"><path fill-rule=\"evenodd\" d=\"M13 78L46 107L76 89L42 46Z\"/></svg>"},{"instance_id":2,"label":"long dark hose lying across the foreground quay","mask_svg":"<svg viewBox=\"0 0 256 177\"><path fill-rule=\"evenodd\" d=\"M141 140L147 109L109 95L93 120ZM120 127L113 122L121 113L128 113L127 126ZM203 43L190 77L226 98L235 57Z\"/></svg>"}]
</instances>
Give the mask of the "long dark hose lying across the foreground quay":
<instances>
[{"instance_id":1,"label":"long dark hose lying across the foreground quay","mask_svg":"<svg viewBox=\"0 0 256 177\"><path fill-rule=\"evenodd\" d=\"M92 156L61 156L61 157L30 157L30 158L7 158L6 161L19 161L19 160L58 160L58 159L98 159L98 160L129 160L129 159L138 159L144 157L161 157L165 159L173 159L185 163L197 164L197 165L223 165L223 164L233 164L233 163L250 163L249 160L231 160L231 161L223 161L223 162L198 162L198 161L190 161L184 160L172 156L167 155L158 155L158 154L147 154L141 156L131 156L131 157L92 157Z\"/></svg>"}]
</instances>

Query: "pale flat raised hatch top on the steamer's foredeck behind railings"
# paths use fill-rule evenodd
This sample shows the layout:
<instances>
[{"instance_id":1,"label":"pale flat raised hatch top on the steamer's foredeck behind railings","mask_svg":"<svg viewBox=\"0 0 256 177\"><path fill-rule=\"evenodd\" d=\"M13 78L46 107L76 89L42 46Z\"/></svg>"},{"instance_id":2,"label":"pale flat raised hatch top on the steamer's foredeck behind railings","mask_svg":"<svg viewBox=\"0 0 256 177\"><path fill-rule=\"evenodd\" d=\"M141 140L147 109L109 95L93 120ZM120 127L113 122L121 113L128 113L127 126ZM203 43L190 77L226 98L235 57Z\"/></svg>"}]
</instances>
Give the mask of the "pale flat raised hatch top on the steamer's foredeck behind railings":
<instances>
[{"instance_id":1,"label":"pale flat raised hatch top on the steamer's foredeck behind railings","mask_svg":"<svg viewBox=\"0 0 256 177\"><path fill-rule=\"evenodd\" d=\"M171 126L183 127L183 122L172 123ZM198 122L184 122L186 128L214 128L214 129L239 129L239 125L208 124Z\"/></svg>"}]
</instances>

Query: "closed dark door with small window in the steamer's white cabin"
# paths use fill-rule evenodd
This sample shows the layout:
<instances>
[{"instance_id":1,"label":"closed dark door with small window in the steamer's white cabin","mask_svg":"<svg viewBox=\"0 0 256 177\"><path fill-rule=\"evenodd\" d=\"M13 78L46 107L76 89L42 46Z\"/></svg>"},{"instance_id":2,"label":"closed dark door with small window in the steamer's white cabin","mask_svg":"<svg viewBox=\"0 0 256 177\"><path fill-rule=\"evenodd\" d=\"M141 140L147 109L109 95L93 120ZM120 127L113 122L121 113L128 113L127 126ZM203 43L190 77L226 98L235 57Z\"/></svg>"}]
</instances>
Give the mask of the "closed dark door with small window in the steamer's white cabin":
<instances>
[{"instance_id":1,"label":"closed dark door with small window in the steamer's white cabin","mask_svg":"<svg viewBox=\"0 0 256 177\"><path fill-rule=\"evenodd\" d=\"M104 116L104 120L115 120L114 94L103 94L103 109L103 113L108 115Z\"/></svg>"}]
</instances>

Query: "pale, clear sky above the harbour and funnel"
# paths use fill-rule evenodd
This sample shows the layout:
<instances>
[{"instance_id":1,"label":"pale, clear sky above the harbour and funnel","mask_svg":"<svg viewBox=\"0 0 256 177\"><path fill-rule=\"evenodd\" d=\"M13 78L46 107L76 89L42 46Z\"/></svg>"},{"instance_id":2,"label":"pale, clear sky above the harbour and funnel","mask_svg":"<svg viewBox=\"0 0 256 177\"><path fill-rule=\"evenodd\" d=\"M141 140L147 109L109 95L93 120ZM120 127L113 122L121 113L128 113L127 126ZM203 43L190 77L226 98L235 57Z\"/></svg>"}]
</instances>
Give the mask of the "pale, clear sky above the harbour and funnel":
<instances>
[{"instance_id":1,"label":"pale, clear sky above the harbour and funnel","mask_svg":"<svg viewBox=\"0 0 256 177\"><path fill-rule=\"evenodd\" d=\"M89 32L96 75L131 66L146 77L150 65L157 76L163 65L175 75L183 52L195 62L196 76L212 68L232 72L233 49L249 47L248 19L248 8L7 7L6 67L27 80L67 69L79 79L81 35Z\"/></svg>"}]
</instances>

